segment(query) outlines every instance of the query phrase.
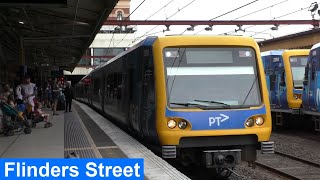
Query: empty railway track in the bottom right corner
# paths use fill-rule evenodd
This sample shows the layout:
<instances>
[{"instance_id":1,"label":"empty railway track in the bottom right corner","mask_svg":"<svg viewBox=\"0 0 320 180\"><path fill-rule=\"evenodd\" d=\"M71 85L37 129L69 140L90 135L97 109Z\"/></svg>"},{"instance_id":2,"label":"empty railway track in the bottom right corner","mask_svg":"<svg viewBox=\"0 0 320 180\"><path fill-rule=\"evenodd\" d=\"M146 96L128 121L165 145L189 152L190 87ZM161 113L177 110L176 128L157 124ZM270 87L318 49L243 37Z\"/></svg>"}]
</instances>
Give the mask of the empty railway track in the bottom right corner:
<instances>
[{"instance_id":1,"label":"empty railway track in the bottom right corner","mask_svg":"<svg viewBox=\"0 0 320 180\"><path fill-rule=\"evenodd\" d=\"M320 179L320 164L279 151L260 155L256 165L289 179Z\"/></svg>"}]
</instances>

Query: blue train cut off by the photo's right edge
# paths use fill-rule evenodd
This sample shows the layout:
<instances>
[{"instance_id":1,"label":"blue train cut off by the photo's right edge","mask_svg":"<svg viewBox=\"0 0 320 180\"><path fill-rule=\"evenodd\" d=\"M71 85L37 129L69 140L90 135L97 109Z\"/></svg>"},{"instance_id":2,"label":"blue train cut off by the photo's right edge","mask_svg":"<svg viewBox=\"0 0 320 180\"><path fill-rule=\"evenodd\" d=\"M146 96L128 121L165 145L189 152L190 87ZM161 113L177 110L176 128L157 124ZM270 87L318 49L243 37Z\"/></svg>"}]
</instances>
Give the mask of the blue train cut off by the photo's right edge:
<instances>
[{"instance_id":1,"label":"blue train cut off by the photo's right edge","mask_svg":"<svg viewBox=\"0 0 320 180\"><path fill-rule=\"evenodd\" d=\"M320 132L320 43L315 44L309 53L305 66L302 93L302 125Z\"/></svg>"}]
</instances>

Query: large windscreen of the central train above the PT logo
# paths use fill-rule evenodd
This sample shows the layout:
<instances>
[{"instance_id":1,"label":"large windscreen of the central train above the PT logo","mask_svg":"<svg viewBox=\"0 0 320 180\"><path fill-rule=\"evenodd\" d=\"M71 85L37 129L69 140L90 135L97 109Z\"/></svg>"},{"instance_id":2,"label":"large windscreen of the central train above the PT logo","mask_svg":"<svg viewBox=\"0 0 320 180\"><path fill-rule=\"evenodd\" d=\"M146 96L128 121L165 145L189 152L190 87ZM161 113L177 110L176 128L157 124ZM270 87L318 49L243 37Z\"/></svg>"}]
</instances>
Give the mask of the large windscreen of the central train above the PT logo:
<instances>
[{"instance_id":1,"label":"large windscreen of the central train above the PT logo","mask_svg":"<svg viewBox=\"0 0 320 180\"><path fill-rule=\"evenodd\" d=\"M168 106L261 105L256 55L248 47L165 48Z\"/></svg>"}]
</instances>

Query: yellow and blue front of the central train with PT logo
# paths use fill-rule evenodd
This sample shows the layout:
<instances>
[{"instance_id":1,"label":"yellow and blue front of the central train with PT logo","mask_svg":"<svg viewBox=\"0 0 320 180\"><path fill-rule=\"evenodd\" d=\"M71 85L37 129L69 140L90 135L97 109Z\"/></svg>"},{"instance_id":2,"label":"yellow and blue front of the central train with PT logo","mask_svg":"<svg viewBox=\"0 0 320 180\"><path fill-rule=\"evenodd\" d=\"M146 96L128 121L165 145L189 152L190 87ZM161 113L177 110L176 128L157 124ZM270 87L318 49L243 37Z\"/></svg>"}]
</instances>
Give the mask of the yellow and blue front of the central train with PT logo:
<instances>
[{"instance_id":1,"label":"yellow and blue front of the central train with PT logo","mask_svg":"<svg viewBox=\"0 0 320 180\"><path fill-rule=\"evenodd\" d=\"M153 45L163 158L208 168L273 153L259 47L244 37L164 37Z\"/></svg>"}]
</instances>

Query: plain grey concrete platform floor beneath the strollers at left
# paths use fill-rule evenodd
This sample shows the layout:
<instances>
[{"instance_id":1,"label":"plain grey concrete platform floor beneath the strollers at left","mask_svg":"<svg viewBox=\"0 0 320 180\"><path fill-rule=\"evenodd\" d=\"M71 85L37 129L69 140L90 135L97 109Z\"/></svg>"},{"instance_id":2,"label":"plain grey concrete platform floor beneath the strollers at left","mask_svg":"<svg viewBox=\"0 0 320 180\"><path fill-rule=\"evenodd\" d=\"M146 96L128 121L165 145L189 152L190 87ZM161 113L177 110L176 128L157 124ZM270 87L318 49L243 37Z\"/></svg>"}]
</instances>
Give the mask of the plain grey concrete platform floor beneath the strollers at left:
<instances>
[{"instance_id":1,"label":"plain grey concrete platform floor beneath the strollers at left","mask_svg":"<svg viewBox=\"0 0 320 180\"><path fill-rule=\"evenodd\" d=\"M44 128L44 122L32 128L31 134L23 132L14 136L0 135L0 158L63 158L64 150L64 113L52 116L49 120L53 123L50 128Z\"/></svg>"}]
</instances>

